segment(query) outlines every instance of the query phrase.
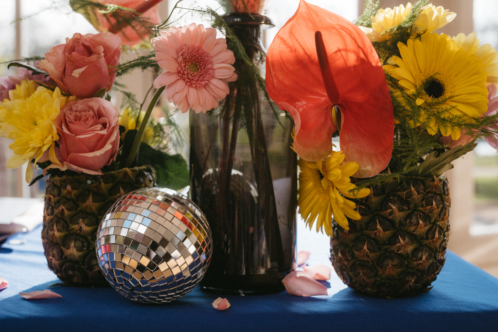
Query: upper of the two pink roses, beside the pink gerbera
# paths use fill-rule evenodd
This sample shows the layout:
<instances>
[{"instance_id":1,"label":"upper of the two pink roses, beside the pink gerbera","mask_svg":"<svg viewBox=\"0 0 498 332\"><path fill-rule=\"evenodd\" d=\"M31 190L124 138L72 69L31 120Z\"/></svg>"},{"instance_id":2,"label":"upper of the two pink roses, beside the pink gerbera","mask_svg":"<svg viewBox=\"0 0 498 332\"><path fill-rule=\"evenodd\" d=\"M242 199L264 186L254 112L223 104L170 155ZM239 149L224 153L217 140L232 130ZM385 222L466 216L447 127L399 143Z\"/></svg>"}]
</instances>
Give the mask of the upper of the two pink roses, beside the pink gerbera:
<instances>
[{"instance_id":1,"label":"upper of the two pink roses, beside the pink gerbera","mask_svg":"<svg viewBox=\"0 0 498 332\"><path fill-rule=\"evenodd\" d=\"M78 98L92 97L105 88L109 91L116 79L121 56L121 38L110 32L75 33L66 44L54 46L40 61L65 93Z\"/></svg>"}]
</instances>

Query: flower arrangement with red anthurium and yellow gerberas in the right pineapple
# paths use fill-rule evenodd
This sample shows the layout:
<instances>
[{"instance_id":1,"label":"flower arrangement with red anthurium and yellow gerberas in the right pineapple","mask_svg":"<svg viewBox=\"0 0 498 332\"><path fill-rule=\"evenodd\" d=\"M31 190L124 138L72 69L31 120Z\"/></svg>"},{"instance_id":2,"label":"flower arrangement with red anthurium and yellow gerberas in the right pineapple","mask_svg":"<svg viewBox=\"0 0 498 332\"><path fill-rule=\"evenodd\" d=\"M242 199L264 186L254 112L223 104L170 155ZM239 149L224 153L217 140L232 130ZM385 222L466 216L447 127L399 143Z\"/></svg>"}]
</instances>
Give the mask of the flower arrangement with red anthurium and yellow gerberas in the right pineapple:
<instances>
[{"instance_id":1,"label":"flower arrangement with red anthurium and yellow gerberas in the right pineapple","mask_svg":"<svg viewBox=\"0 0 498 332\"><path fill-rule=\"evenodd\" d=\"M332 235L333 216L349 229L346 217L360 219L351 199L368 186L439 177L480 137L498 147L498 52L475 33L436 32L455 16L426 0L366 1L353 24L301 0L280 29L266 85L294 119L299 213L310 227Z\"/></svg>"}]
</instances>

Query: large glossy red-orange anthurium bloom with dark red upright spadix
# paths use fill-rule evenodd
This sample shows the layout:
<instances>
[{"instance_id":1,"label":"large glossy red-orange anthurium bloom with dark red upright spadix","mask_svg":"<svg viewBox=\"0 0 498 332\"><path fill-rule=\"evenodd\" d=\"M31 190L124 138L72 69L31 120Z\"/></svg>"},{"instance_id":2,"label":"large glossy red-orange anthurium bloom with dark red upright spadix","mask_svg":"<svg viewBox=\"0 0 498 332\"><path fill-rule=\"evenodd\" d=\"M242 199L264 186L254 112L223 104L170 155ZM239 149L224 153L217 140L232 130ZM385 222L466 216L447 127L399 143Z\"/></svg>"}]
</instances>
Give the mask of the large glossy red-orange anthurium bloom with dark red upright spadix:
<instances>
[{"instance_id":1,"label":"large glossy red-orange anthurium bloom with dark red upright spadix","mask_svg":"<svg viewBox=\"0 0 498 332\"><path fill-rule=\"evenodd\" d=\"M328 156L339 129L345 162L360 165L355 177L376 175L389 163L389 89L372 43L345 18L301 0L268 48L266 88L293 117L301 158Z\"/></svg>"}]
</instances>

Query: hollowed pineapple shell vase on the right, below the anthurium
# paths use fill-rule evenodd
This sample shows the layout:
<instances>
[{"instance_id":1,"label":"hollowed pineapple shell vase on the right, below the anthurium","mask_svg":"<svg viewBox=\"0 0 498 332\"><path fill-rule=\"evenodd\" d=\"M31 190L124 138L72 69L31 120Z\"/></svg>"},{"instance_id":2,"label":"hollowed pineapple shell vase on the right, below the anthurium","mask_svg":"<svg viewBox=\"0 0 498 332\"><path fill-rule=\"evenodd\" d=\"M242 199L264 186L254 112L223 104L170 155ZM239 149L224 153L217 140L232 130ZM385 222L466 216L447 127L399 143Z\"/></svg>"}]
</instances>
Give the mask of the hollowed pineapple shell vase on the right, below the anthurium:
<instances>
[{"instance_id":1,"label":"hollowed pineapple shell vase on the right, below the anthurium","mask_svg":"<svg viewBox=\"0 0 498 332\"><path fill-rule=\"evenodd\" d=\"M343 282L384 298L429 290L448 242L446 178L391 180L357 204L362 218L349 230L333 221L330 259Z\"/></svg>"}]
</instances>

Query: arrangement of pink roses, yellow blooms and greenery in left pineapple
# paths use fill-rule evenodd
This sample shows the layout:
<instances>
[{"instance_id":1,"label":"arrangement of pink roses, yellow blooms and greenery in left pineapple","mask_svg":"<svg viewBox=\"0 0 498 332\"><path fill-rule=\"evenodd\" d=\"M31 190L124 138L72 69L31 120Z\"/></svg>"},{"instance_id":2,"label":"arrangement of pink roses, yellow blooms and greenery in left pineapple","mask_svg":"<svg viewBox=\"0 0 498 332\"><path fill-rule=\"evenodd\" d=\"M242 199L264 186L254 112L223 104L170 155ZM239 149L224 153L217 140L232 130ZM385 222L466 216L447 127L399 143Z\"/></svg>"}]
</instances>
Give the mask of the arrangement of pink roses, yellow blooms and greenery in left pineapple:
<instances>
[{"instance_id":1,"label":"arrangement of pink roses, yellow blooms and greenery in left pineapple","mask_svg":"<svg viewBox=\"0 0 498 332\"><path fill-rule=\"evenodd\" d=\"M2 78L0 86L0 135L12 140L7 167L28 163L25 178L32 183L47 174L102 175L151 165L160 184L176 189L188 185L185 160L167 153L174 123L150 118L159 94L146 111L140 110L145 101L139 104L130 94L122 111L110 101L117 76L136 68L120 64L121 55L153 33L158 2L71 1L101 32L75 33L33 65L9 64L19 70ZM37 166L43 174L35 177Z\"/></svg>"}]
</instances>

